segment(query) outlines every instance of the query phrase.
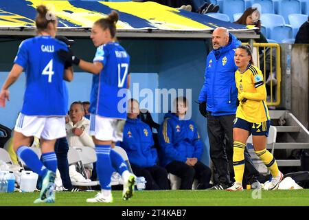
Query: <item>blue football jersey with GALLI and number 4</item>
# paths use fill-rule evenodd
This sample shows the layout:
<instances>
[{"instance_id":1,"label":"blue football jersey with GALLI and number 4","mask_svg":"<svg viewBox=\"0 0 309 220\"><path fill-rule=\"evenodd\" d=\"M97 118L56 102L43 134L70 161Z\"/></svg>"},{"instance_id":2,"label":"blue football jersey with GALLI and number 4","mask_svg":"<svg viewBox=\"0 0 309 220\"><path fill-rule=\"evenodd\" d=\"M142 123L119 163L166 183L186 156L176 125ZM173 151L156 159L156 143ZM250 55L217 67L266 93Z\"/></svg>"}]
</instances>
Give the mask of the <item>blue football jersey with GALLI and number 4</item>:
<instances>
[{"instance_id":1,"label":"blue football jersey with GALLI and number 4","mask_svg":"<svg viewBox=\"0 0 309 220\"><path fill-rule=\"evenodd\" d=\"M21 113L66 115L65 63L57 55L60 49L67 50L67 45L52 36L35 36L19 46L14 63L23 67L27 80Z\"/></svg>"}]
</instances>

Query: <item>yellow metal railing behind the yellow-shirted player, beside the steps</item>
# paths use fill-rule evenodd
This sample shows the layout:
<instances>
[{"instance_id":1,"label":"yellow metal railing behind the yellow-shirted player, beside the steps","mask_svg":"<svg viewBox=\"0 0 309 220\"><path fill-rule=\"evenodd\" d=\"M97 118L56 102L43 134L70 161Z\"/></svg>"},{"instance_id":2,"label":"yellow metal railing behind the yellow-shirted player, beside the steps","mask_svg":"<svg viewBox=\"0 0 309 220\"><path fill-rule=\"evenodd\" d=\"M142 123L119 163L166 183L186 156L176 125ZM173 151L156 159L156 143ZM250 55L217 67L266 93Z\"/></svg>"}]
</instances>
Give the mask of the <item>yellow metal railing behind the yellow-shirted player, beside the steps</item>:
<instances>
[{"instance_id":1,"label":"yellow metal railing behind the yellow-shirted player, beside the steps","mask_svg":"<svg viewBox=\"0 0 309 220\"><path fill-rule=\"evenodd\" d=\"M246 43L247 44L247 43ZM281 102L281 65L280 65L280 46L277 43L253 43L253 48L256 48L256 61L258 61L257 63L255 63L256 66L258 66L260 68L260 47L263 47L263 75L264 75L264 82L266 83L266 48L270 47L270 72L269 72L269 76L270 78L270 94L267 94L269 96L268 100L267 100L267 105L268 106L278 106ZM276 50L276 59L275 59L275 73L276 73L276 79L277 79L277 84L273 85L273 74L272 74L272 69L273 69L273 48L275 48ZM255 50L253 50L253 53L255 53ZM252 54L253 58L255 57L255 54ZM260 68L261 69L261 68ZM275 96L274 96L275 95Z\"/></svg>"}]
</instances>

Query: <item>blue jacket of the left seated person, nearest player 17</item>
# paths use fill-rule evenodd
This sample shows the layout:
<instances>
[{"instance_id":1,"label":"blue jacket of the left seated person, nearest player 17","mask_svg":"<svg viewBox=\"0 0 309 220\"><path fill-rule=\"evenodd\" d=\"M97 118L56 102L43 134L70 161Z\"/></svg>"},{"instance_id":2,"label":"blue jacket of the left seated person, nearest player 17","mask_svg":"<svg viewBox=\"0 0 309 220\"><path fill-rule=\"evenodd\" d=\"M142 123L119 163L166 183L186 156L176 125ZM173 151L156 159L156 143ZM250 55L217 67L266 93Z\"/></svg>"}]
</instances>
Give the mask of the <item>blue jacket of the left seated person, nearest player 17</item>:
<instances>
[{"instance_id":1,"label":"blue jacket of the left seated person, nearest player 17","mask_svg":"<svg viewBox=\"0 0 309 220\"><path fill-rule=\"evenodd\" d=\"M148 124L139 118L126 120L124 124L124 138L120 146L128 154L130 163L141 167L157 164L157 149L154 145L152 131Z\"/></svg>"}]
</instances>

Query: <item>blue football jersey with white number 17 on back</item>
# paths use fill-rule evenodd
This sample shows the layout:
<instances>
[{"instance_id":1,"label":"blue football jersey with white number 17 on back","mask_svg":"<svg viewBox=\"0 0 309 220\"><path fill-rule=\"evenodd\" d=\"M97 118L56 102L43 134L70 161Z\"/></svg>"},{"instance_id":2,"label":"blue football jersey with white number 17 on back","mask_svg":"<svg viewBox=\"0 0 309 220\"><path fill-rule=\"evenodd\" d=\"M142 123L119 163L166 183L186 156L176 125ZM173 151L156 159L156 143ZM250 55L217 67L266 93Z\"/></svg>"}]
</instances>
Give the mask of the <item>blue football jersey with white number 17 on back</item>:
<instances>
[{"instance_id":1,"label":"blue football jersey with white number 17 on back","mask_svg":"<svg viewBox=\"0 0 309 220\"><path fill-rule=\"evenodd\" d=\"M89 111L106 118L125 119L130 56L119 43L106 43L98 47L95 62L102 63L103 69L93 75ZM120 89L124 91L118 94Z\"/></svg>"}]
</instances>

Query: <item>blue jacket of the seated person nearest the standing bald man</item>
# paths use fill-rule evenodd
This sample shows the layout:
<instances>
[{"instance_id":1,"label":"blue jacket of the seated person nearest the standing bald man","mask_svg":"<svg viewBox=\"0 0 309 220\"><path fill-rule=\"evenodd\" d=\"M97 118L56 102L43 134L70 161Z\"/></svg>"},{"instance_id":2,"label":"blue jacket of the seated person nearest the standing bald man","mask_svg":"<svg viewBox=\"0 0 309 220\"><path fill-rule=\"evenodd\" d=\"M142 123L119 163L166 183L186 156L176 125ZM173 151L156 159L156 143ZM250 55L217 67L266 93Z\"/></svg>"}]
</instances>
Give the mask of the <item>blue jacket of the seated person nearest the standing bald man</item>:
<instances>
[{"instance_id":1,"label":"blue jacket of the seated person nearest the standing bald man","mask_svg":"<svg viewBox=\"0 0 309 220\"><path fill-rule=\"evenodd\" d=\"M174 113L166 113L159 133L160 162L162 166L176 160L186 162L187 157L201 159L203 144L192 120L179 120Z\"/></svg>"}]
</instances>

